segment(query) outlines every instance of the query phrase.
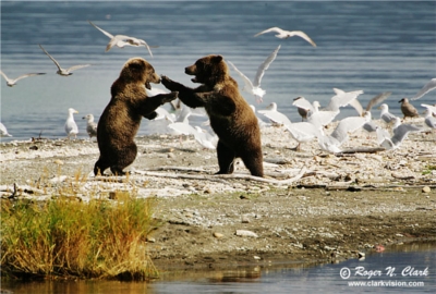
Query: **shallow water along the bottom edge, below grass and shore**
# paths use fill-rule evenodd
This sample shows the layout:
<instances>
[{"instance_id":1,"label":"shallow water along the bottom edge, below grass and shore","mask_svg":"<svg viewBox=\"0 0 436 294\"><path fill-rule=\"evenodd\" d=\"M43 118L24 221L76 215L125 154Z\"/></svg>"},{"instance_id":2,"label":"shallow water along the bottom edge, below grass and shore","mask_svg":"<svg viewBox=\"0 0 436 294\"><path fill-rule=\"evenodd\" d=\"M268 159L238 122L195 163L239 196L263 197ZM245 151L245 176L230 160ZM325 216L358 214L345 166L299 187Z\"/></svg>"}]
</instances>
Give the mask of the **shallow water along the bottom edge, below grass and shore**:
<instances>
[{"instance_id":1,"label":"shallow water along the bottom edge, below grass and shore","mask_svg":"<svg viewBox=\"0 0 436 294\"><path fill-rule=\"evenodd\" d=\"M3 283L2 289L14 294L435 293L435 242L397 245L384 253L367 254L364 260L322 266L283 262L174 273L152 283L58 281Z\"/></svg>"}]
</instances>

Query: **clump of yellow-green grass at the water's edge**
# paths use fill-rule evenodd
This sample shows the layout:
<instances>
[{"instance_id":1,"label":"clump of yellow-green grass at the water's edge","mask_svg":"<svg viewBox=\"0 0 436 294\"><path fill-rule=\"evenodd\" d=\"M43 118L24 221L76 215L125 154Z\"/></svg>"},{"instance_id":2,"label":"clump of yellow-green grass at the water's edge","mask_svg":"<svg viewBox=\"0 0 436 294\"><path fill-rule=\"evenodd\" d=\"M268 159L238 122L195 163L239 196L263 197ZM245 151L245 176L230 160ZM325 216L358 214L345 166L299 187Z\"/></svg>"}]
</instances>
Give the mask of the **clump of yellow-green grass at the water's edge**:
<instances>
[{"instance_id":1,"label":"clump of yellow-green grass at the water's edge","mask_svg":"<svg viewBox=\"0 0 436 294\"><path fill-rule=\"evenodd\" d=\"M144 280L157 275L146 253L153 199L1 201L1 273L11 279Z\"/></svg>"}]
</instances>

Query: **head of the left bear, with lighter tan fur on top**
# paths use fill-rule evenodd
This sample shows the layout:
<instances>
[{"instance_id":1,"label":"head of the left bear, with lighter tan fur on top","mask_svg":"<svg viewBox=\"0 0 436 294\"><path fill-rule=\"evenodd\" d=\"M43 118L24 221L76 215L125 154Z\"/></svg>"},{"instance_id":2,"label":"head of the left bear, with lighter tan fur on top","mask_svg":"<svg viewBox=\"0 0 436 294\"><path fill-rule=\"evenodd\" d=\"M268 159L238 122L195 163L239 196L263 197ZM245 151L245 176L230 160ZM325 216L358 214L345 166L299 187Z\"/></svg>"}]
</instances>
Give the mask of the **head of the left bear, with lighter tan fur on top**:
<instances>
[{"instance_id":1,"label":"head of the left bear, with lighter tan fur on top","mask_svg":"<svg viewBox=\"0 0 436 294\"><path fill-rule=\"evenodd\" d=\"M149 83L160 83L160 76L155 73L152 64L143 58L129 59L121 70L120 79L126 83L142 83L147 89L152 89Z\"/></svg>"}]
</instances>

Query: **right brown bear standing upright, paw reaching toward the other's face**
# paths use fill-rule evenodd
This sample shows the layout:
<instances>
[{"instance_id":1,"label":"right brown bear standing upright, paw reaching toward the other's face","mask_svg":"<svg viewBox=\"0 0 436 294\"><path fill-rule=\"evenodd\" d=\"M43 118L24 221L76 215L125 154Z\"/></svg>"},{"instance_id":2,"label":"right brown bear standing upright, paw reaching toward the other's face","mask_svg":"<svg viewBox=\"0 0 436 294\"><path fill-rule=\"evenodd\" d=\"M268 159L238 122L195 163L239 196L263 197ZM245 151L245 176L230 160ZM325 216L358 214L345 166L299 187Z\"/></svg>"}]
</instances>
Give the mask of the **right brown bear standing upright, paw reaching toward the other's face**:
<instances>
[{"instance_id":1,"label":"right brown bear standing upright, paw reaching toward the other's face","mask_svg":"<svg viewBox=\"0 0 436 294\"><path fill-rule=\"evenodd\" d=\"M218 135L218 174L233 172L233 161L241 158L252 175L263 176L261 130L252 108L241 96L238 83L229 75L221 56L207 56L185 68L194 75L197 88L189 88L162 76L162 85L179 91L179 99L189 107L204 107L210 126Z\"/></svg>"}]
</instances>

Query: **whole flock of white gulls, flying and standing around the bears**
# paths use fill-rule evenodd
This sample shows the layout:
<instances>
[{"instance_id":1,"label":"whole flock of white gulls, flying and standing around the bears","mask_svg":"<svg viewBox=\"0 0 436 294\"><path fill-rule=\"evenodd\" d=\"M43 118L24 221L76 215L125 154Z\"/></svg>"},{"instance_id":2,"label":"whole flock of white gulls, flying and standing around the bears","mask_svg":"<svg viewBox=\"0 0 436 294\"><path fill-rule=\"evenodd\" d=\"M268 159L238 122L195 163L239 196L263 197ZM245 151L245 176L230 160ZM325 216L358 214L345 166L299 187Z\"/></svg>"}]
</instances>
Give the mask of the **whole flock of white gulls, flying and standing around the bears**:
<instances>
[{"instance_id":1,"label":"whole flock of white gulls, flying and standing around the bears","mask_svg":"<svg viewBox=\"0 0 436 294\"><path fill-rule=\"evenodd\" d=\"M106 47L106 51L110 50L113 47L145 47L148 50L150 57L153 57L150 48L158 48L157 46L149 46L145 40L135 37L130 37L126 35L111 35L110 33L95 25L93 22L88 22L96 29L100 30L104 35L109 37L110 40ZM312 38L310 38L304 32L301 30L284 30L279 27L270 27L255 34L254 37L258 37L261 35L271 32L277 33L277 35L275 35L277 38L288 39L293 36L298 36L306 40L313 47L317 47ZM60 66L59 62L52 56L50 56L41 45L39 45L39 47L43 52L47 54L58 68L57 74L61 76L70 76L73 74L73 71L92 65L81 64L71 66L69 69L63 69ZM262 78L277 58L280 48L281 45L279 45L258 66L253 82L240 70L238 70L238 68L232 62L227 60L227 63L230 64L234 72L243 79L244 86L242 90L253 95L257 103L263 102L263 97L266 95L266 90L261 87ZM45 73L27 73L20 75L15 79L9 78L2 71L0 71L0 74L7 81L7 85L9 87L12 87L16 85L16 82L22 78L44 75ZM436 78L432 78L410 100L413 101L420 99L425 94L435 88ZM162 91L165 90L154 88L149 91L149 95L153 96ZM403 98L399 101L401 103L401 112L403 113L403 122L401 122L400 118L397 118L389 112L387 103L382 103L389 97L391 93L383 93L380 95L377 95L376 97L371 99L365 110L363 110L363 107L358 99L359 96L363 94L363 90L347 93L344 90L334 88L334 91L335 95L330 98L329 103L324 109L320 109L320 105L318 101L308 101L304 97L296 97L293 100L291 100L290 98L290 102L293 101L292 106L295 107L295 110L302 117L302 122L292 123L289 118L277 110L277 105L272 102L268 108L257 111L258 114L267 118L272 124L265 123L262 118L258 117L259 124L262 127L270 127L271 125L284 126L284 130L288 131L291 137L298 143L295 150L301 150L301 144L316 139L320 150L332 154L341 152L343 150L341 146L349 139L349 135L356 132L358 130L364 130L367 133L376 133L378 145L380 147L384 147L385 149L399 148L401 146L401 143L411 132L423 132L426 128L429 128L432 132L436 131L436 106L421 105L423 108L426 109L424 126L421 126L405 122L408 118L420 117L419 111L409 102L408 98ZM379 103L382 103L379 106L379 109L382 110L379 122L382 122L383 125L378 125L377 123L375 123L372 120L371 114L371 109ZM171 113L160 107L157 110L159 115L155 120L165 120L167 122L167 128L173 134L193 135L198 144L201 144L204 148L216 148L217 136L204 128L201 128L199 126L194 127L190 125L187 119L190 115L206 115L205 112L198 113L196 112L196 110L192 110L183 105L174 106L173 103L171 103ZM341 121L337 122L336 127L332 132L327 132L328 125L340 113L340 109L348 106L355 109L356 115L342 119ZM254 106L252 106L252 109L255 111ZM78 112L72 108L68 110L68 118L64 124L65 134L69 139L71 137L76 138L78 134L78 127L74 121L74 113ZM86 132L89 136L89 139L96 137L97 123L94 122L94 115L87 114L83 117L83 119L87 121ZM11 136L11 134L8 133L5 126L2 123L0 123L0 131L1 136Z\"/></svg>"}]
</instances>

